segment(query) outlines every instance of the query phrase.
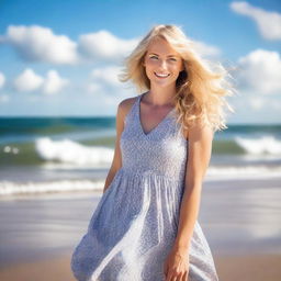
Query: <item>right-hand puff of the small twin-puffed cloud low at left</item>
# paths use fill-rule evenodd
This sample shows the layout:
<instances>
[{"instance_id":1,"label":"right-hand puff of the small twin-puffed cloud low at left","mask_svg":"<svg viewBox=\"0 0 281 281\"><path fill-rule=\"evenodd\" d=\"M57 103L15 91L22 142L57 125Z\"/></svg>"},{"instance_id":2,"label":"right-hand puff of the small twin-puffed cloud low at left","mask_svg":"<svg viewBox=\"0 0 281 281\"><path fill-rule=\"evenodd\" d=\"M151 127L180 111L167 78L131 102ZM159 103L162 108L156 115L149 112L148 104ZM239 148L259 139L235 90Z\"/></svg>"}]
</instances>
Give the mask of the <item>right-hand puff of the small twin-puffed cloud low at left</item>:
<instances>
[{"instance_id":1,"label":"right-hand puff of the small twin-puffed cloud low at left","mask_svg":"<svg viewBox=\"0 0 281 281\"><path fill-rule=\"evenodd\" d=\"M47 94L57 93L68 83L69 81L59 77L56 70L49 70L43 83L43 92Z\"/></svg>"}]
</instances>

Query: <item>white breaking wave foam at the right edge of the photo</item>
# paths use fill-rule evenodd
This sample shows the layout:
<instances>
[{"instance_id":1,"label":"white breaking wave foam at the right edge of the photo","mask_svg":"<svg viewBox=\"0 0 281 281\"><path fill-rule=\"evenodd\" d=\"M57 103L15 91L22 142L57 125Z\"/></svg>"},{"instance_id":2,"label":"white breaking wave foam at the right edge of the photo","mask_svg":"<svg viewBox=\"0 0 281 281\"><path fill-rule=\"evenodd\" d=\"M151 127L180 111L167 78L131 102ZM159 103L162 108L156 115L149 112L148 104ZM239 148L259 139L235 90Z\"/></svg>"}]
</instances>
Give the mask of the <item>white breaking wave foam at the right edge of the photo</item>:
<instances>
[{"instance_id":1,"label":"white breaking wave foam at the right edge of the photo","mask_svg":"<svg viewBox=\"0 0 281 281\"><path fill-rule=\"evenodd\" d=\"M263 136L260 138L235 137L236 143L248 154L252 155L281 155L281 140L273 136Z\"/></svg>"}]
</instances>

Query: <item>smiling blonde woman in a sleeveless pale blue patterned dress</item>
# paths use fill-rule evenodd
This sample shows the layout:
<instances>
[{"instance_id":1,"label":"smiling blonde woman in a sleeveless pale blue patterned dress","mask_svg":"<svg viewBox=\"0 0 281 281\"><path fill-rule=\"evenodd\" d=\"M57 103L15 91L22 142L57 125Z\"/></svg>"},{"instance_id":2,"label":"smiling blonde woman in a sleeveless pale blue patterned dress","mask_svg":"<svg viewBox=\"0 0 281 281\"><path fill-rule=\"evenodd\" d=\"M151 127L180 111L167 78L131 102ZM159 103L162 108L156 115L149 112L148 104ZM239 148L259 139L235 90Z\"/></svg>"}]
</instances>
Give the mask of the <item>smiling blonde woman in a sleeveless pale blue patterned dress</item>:
<instances>
[{"instance_id":1,"label":"smiling blonde woman in a sleeveless pale blue patterned dress","mask_svg":"<svg viewBox=\"0 0 281 281\"><path fill-rule=\"evenodd\" d=\"M223 67L221 69L224 70ZM198 223L213 133L231 106L225 71L213 72L180 27L157 25L126 59L123 100L104 193L71 259L79 281L216 281ZM232 110L232 109L231 109Z\"/></svg>"}]
</instances>

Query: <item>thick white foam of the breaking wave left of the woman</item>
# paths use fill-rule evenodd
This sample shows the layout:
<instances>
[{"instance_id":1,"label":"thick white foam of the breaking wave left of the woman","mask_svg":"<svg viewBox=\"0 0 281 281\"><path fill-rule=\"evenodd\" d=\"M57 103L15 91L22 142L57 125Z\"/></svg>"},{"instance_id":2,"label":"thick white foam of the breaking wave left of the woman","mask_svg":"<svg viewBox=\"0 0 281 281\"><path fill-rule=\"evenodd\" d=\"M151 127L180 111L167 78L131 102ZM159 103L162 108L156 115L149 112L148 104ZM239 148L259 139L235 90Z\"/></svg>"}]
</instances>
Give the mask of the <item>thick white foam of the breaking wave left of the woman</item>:
<instances>
[{"instance_id":1,"label":"thick white foam of the breaking wave left of the woman","mask_svg":"<svg viewBox=\"0 0 281 281\"><path fill-rule=\"evenodd\" d=\"M102 146L85 146L70 139L52 140L41 137L35 142L35 149L41 158L75 165L110 165L114 149Z\"/></svg>"}]
</instances>

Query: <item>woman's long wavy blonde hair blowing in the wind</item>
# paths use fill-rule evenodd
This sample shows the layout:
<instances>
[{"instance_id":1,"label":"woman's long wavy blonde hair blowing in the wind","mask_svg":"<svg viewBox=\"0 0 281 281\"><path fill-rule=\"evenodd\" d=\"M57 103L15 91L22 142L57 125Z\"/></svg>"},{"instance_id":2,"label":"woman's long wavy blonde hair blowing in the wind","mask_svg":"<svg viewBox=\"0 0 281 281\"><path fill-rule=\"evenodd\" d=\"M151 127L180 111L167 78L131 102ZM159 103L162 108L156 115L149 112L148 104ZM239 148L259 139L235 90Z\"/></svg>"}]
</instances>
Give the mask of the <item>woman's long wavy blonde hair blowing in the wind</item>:
<instances>
[{"instance_id":1,"label":"woman's long wavy blonde hair blowing in the wind","mask_svg":"<svg viewBox=\"0 0 281 281\"><path fill-rule=\"evenodd\" d=\"M226 80L231 75L221 64L213 63L214 69L217 67L217 70L212 70L211 61L203 59L195 52L194 43L177 25L154 26L125 58L125 69L119 76L120 81L132 80L140 92L150 89L150 80L146 76L143 61L149 44L156 38L166 40L180 54L184 65L184 70L176 81L178 122L184 128L189 128L195 120L211 125L213 131L227 128L225 109L234 111L225 100L234 90Z\"/></svg>"}]
</instances>

